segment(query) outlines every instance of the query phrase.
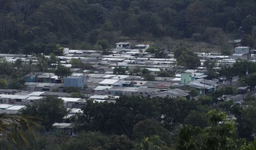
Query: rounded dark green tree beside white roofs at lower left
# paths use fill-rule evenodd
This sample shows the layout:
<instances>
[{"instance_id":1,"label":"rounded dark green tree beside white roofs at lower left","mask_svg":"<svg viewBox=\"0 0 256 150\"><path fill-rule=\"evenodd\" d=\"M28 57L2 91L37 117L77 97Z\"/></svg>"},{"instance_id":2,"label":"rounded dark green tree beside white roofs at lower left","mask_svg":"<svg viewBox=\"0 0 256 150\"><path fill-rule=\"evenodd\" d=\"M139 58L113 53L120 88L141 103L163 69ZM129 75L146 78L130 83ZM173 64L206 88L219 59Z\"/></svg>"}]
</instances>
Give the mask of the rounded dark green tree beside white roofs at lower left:
<instances>
[{"instance_id":1,"label":"rounded dark green tree beside white roofs at lower left","mask_svg":"<svg viewBox=\"0 0 256 150\"><path fill-rule=\"evenodd\" d=\"M54 96L45 97L41 103L27 105L26 109L21 110L24 116L33 116L40 119L40 124L49 130L54 123L61 123L63 117L67 115L67 109L60 98Z\"/></svg>"}]
</instances>

